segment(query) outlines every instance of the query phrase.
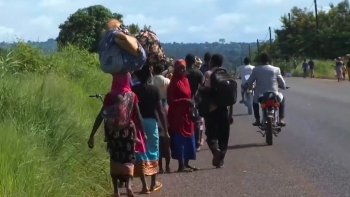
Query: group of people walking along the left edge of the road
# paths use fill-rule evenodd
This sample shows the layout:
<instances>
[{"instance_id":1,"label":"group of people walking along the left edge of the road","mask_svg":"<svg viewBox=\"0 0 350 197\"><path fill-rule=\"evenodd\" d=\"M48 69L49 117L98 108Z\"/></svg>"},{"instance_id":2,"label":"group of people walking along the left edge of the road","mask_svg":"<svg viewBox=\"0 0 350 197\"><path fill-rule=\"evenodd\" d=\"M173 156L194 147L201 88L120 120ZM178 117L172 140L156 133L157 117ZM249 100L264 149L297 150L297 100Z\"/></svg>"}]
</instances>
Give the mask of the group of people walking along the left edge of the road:
<instances>
[{"instance_id":1,"label":"group of people walking along the left edge of the road","mask_svg":"<svg viewBox=\"0 0 350 197\"><path fill-rule=\"evenodd\" d=\"M88 146L93 148L94 136L104 122L113 196L120 196L121 186L126 187L128 196L134 196L131 187L134 177L142 182L141 194L161 189L157 174L172 172L171 158L177 160L178 172L198 170L190 164L203 144L201 117L193 116L195 96L200 87L210 87L212 69L221 67L222 63L222 55L206 53L201 66L198 57L188 54L185 59L173 62L172 75L163 75L167 69L163 65L147 64L133 73L113 74L111 90L105 96L88 141ZM127 105L116 105L123 102ZM108 117L104 115L116 107L130 116L128 125L117 130L107 126ZM220 168L224 165L233 123L232 106L210 106L204 120L207 143L213 153L212 164ZM147 176L151 177L150 185Z\"/></svg>"}]
</instances>

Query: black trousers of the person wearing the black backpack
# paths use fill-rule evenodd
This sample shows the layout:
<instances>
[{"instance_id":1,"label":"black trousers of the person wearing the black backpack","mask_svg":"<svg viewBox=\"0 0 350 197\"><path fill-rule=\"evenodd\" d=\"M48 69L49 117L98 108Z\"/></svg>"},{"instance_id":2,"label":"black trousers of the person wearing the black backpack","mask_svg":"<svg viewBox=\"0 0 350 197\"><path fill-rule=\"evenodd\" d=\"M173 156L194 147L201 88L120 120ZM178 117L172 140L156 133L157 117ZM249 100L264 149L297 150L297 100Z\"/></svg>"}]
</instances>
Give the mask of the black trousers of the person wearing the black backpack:
<instances>
[{"instance_id":1,"label":"black trousers of the person wearing the black backpack","mask_svg":"<svg viewBox=\"0 0 350 197\"><path fill-rule=\"evenodd\" d=\"M228 109L226 107L218 108L204 117L204 121L207 144L213 154L219 149L221 152L220 159L223 160L226 155L230 138Z\"/></svg>"}]
</instances>

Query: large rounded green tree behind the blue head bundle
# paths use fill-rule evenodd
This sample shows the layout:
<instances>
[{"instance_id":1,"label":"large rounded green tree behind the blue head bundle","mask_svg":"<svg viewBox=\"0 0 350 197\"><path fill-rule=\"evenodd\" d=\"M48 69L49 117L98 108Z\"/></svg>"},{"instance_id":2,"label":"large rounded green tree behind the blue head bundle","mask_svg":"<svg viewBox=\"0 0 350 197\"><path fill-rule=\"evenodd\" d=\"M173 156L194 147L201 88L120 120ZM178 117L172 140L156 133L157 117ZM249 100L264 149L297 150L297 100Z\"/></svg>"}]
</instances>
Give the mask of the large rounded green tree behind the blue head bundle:
<instances>
[{"instance_id":1,"label":"large rounded green tree behind the blue head bundle","mask_svg":"<svg viewBox=\"0 0 350 197\"><path fill-rule=\"evenodd\" d=\"M88 49L89 52L97 52L105 23L111 18L122 22L123 15L112 13L102 5L79 9L60 24L56 41L60 46L72 44Z\"/></svg>"}]
</instances>

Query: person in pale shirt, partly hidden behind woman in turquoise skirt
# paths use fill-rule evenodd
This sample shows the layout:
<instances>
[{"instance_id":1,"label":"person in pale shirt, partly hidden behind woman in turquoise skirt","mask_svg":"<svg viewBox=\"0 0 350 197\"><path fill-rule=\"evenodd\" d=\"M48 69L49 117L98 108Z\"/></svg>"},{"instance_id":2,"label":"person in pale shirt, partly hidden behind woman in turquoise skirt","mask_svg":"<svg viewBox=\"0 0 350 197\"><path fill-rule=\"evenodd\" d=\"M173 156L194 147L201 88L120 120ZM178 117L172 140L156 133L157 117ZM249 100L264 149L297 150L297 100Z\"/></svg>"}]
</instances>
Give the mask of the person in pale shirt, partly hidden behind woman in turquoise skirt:
<instances>
[{"instance_id":1,"label":"person in pale shirt, partly hidden behind woman in turquoise skirt","mask_svg":"<svg viewBox=\"0 0 350 197\"><path fill-rule=\"evenodd\" d=\"M158 88L160 93L160 98L162 100L162 106L166 116L168 115L168 102L167 102L167 89L170 84L170 79L164 77L162 72L164 71L164 67L161 65L156 65L153 68L154 76L153 83ZM170 141L165 138L165 130L161 127L162 124L159 124L159 173L163 174L163 158L165 159L165 172L171 173L170 169L170 159L171 159L171 151L170 151Z\"/></svg>"}]
</instances>

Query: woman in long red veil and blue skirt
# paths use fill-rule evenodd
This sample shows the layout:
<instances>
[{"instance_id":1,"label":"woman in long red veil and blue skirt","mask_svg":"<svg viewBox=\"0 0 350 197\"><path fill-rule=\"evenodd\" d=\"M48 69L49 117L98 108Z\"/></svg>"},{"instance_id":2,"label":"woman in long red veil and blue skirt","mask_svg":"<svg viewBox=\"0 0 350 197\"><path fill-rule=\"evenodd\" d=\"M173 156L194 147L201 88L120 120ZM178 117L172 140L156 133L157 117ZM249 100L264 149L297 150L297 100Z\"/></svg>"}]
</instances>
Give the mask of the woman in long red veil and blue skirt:
<instances>
[{"instance_id":1,"label":"woman in long red veil and blue skirt","mask_svg":"<svg viewBox=\"0 0 350 197\"><path fill-rule=\"evenodd\" d=\"M179 163L179 172L196 171L189 164L196 159L196 143L190 108L194 107L191 88L186 76L186 62L175 62L174 75L170 81L167 99L169 104L168 120L171 133L171 156Z\"/></svg>"}]
</instances>

